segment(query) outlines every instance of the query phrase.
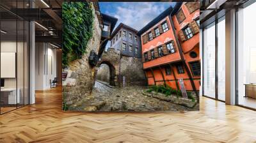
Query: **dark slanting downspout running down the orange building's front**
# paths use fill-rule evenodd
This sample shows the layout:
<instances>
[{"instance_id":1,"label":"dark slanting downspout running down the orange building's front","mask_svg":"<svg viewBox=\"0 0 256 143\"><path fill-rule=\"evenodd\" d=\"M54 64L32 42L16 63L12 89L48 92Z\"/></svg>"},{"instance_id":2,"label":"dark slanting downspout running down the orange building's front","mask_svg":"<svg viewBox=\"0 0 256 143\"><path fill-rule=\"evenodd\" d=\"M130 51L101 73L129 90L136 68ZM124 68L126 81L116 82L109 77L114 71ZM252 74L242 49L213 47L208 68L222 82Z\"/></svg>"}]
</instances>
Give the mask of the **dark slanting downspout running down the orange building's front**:
<instances>
[{"instance_id":1,"label":"dark slanting downspout running down the orange building's front","mask_svg":"<svg viewBox=\"0 0 256 143\"><path fill-rule=\"evenodd\" d=\"M173 24L173 21L172 21L172 17L171 17L170 15L168 15L168 18L170 19L170 23L171 23L171 26L172 26L172 29L173 29L173 34L174 34L176 43L177 43L177 45L178 45L180 58L182 59L182 63L184 64L185 70L186 70L186 72L188 73L189 80L190 80L190 82L191 82L191 86L192 86L192 88L193 88L193 91L196 91L195 82L194 82L194 80L193 80L193 78L192 78L191 72L189 71L188 65L187 65L186 62L185 62L185 58L184 58L184 55L183 55L183 53L182 53L181 44L180 44L180 41L179 41L179 39L178 39L178 37L177 37L176 30L175 30L175 27L174 27L174 24ZM196 92L196 96L198 96L198 93L197 93L197 92Z\"/></svg>"}]
</instances>

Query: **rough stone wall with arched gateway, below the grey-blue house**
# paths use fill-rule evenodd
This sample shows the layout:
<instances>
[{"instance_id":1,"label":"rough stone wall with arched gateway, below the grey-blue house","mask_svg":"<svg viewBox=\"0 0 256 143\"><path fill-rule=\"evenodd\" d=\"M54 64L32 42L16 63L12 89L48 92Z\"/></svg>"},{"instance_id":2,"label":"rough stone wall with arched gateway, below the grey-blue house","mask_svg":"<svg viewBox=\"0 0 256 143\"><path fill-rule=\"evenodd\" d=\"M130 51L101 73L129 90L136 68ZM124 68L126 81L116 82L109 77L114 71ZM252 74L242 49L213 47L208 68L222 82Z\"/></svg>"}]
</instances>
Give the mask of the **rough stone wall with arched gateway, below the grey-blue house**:
<instances>
[{"instance_id":1,"label":"rough stone wall with arched gateway, below the grey-blue house","mask_svg":"<svg viewBox=\"0 0 256 143\"><path fill-rule=\"evenodd\" d=\"M114 78L113 76L111 76L111 72L114 72L115 86L123 87L147 85L145 74L143 72L143 63L141 61L141 58L128 57L124 55L120 57L119 50L108 49L108 52L104 52L100 59L101 61L99 62L98 66L100 66L101 63L104 63L108 64L109 67L99 68L97 72L97 79L104 79L104 82L109 82L105 79L108 79L108 77L109 80L111 80L111 77ZM111 68L111 66L113 68ZM123 81L125 81L125 85L123 85Z\"/></svg>"}]
</instances>

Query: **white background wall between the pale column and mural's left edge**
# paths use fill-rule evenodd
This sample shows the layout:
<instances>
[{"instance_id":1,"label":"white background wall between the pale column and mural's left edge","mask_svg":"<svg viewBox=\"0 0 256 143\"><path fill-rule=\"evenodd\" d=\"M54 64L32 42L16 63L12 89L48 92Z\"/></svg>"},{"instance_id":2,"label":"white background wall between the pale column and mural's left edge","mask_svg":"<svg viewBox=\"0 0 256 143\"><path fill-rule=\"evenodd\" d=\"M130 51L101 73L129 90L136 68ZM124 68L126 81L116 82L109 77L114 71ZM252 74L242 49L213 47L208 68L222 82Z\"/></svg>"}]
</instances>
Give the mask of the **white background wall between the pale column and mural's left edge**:
<instances>
[{"instance_id":1,"label":"white background wall between the pale column and mural's left edge","mask_svg":"<svg viewBox=\"0 0 256 143\"><path fill-rule=\"evenodd\" d=\"M35 89L49 89L50 80L56 77L56 49L49 43L36 43L35 54Z\"/></svg>"}]
</instances>

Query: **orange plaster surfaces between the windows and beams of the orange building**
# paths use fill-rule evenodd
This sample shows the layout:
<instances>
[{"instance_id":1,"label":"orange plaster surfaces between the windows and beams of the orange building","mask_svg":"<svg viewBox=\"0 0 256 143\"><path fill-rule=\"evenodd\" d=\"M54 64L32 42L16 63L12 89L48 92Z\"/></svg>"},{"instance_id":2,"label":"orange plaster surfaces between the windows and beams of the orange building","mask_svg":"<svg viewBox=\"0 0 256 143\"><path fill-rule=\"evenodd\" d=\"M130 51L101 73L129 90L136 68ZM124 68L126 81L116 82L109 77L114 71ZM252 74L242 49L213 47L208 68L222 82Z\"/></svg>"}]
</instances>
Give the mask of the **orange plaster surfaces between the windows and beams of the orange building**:
<instances>
[{"instance_id":1,"label":"orange plaster surfaces between the windows and beams of the orange building","mask_svg":"<svg viewBox=\"0 0 256 143\"><path fill-rule=\"evenodd\" d=\"M179 36L180 29L182 29L183 26L186 26L187 23L191 22L191 20L195 19L196 15L199 14L199 10L196 10L193 13L189 14L189 11L187 10L187 8L184 4L182 5L182 10L184 11L184 14L186 15L186 19L182 23L180 23L180 24L178 23L176 16L172 17L172 20L173 20L173 23L174 23L174 26L175 26L175 29L176 29L176 32L177 32L176 33L177 36ZM150 68L152 66L157 66L157 65L161 65L161 64L170 63L170 62L173 62L173 61L180 61L180 59L181 59L180 55L179 55L179 49L177 47L177 41L175 40L175 36L173 35L173 29L172 29L172 26L170 24L170 20L169 20L168 17L166 17L166 20L168 22L169 30L166 31L165 33L161 34L160 36L157 36L153 40L148 41L145 44L141 43L142 44L141 49L142 49L143 53L147 52L148 50L151 50L150 47L152 47L152 46L157 47L158 42L161 42L163 44L164 40L166 40L166 38L170 38L170 39L175 41L175 50L176 50L176 52L174 54L169 54L167 56L158 57L158 58L156 58L152 61L148 61L148 62L143 63L143 68L144 69L145 68ZM160 24L160 22L158 24L156 24L156 26L159 25L159 24ZM155 28L156 26L154 26L152 28ZM143 33L143 34L145 34L145 33ZM141 41L143 41L142 40L143 34L141 35ZM186 60L186 64L188 65L189 70L190 70L190 66L188 64L189 61L198 61L198 60L200 60L200 58L199 58L199 55L200 55L199 54L199 44L198 44L199 43L199 35L200 34L197 33L191 39L181 43L181 47L182 47L182 50L183 50L182 52L183 52L183 54L186 53L186 54L184 54L184 58ZM195 51L196 54L198 54L198 57L191 58L189 56L189 51L191 51L191 50ZM175 79L174 79L174 76L173 76L173 72L174 72L177 80L179 78L184 79L184 85L186 87L186 90L193 90L193 87L192 87L191 82L189 80L188 73L186 72L185 68L184 68L185 73L182 73L182 74L177 73L176 66L172 66L172 68L173 68L173 70L172 70L171 75L166 75L164 67L161 66L161 70L163 72L164 80L165 80L166 84L170 87L173 87L174 89L177 89L176 82L175 82ZM154 72L154 77L155 77L155 80L156 80L156 84L157 85L164 84L164 82L161 82L161 81L157 82L158 80L163 80L161 71L159 69L157 69L157 70L153 70L153 72ZM147 77L148 77L148 85L154 85L155 84L154 78L153 78L153 75L150 71L147 71ZM198 77L196 77L196 78L197 79L195 79L194 82L195 82L196 90L199 90L199 88L200 88L200 79L198 79ZM178 84L179 84L179 82L178 82Z\"/></svg>"}]
</instances>

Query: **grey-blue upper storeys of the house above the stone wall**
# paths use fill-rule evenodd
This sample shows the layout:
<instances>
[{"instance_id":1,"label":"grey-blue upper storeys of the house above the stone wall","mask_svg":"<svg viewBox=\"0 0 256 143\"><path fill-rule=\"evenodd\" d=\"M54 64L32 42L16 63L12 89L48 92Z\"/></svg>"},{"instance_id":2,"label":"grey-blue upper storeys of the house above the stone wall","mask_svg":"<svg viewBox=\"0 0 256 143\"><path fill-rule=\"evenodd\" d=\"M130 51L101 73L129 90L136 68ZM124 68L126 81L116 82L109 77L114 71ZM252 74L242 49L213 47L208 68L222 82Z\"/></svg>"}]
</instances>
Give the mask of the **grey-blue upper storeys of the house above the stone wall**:
<instances>
[{"instance_id":1,"label":"grey-blue upper storeys of the house above the stone wall","mask_svg":"<svg viewBox=\"0 0 256 143\"><path fill-rule=\"evenodd\" d=\"M111 36L111 48L120 50L129 57L141 57L141 44L138 31L120 23Z\"/></svg>"}]
</instances>

